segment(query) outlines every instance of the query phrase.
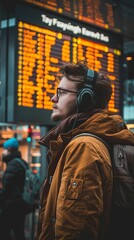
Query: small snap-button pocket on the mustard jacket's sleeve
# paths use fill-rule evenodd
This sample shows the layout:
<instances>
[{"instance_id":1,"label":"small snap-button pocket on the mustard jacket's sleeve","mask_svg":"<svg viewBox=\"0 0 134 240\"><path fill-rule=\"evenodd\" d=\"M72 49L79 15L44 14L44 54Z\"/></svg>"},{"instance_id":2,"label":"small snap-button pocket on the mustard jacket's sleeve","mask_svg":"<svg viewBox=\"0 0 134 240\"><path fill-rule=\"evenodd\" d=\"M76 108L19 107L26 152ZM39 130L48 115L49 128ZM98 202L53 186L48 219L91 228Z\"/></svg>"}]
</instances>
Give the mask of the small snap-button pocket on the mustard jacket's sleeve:
<instances>
[{"instance_id":1,"label":"small snap-button pocket on the mustard jacket's sleeve","mask_svg":"<svg viewBox=\"0 0 134 240\"><path fill-rule=\"evenodd\" d=\"M80 199L82 187L82 179L71 178L67 188L66 199Z\"/></svg>"}]
</instances>

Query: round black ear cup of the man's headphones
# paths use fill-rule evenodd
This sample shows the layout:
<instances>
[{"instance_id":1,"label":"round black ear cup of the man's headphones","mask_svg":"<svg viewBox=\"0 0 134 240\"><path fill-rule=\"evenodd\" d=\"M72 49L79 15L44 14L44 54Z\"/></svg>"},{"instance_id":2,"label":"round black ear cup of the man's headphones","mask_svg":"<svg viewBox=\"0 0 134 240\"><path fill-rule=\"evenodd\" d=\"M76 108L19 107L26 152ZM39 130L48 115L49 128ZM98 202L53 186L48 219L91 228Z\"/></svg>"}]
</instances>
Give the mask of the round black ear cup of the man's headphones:
<instances>
[{"instance_id":1,"label":"round black ear cup of the man's headphones","mask_svg":"<svg viewBox=\"0 0 134 240\"><path fill-rule=\"evenodd\" d=\"M77 93L77 108L78 112L88 112L95 107L95 94L92 87L84 86Z\"/></svg>"}]
</instances>

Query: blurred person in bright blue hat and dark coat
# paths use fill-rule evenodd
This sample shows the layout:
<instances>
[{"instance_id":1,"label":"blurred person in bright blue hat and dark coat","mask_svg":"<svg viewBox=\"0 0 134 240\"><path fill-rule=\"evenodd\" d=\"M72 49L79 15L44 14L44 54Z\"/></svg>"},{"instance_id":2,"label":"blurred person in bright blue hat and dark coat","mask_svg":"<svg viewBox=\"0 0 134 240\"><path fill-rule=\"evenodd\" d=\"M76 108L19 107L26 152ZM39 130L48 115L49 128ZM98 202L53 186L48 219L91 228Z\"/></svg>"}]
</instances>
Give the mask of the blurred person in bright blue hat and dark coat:
<instances>
[{"instance_id":1,"label":"blurred person in bright blue hat and dark coat","mask_svg":"<svg viewBox=\"0 0 134 240\"><path fill-rule=\"evenodd\" d=\"M28 205L23 200L22 193L25 180L25 169L16 161L21 159L19 143L16 138L11 138L3 144L2 161L6 163L6 170L2 178L0 192L0 239L24 240L25 216Z\"/></svg>"}]
</instances>

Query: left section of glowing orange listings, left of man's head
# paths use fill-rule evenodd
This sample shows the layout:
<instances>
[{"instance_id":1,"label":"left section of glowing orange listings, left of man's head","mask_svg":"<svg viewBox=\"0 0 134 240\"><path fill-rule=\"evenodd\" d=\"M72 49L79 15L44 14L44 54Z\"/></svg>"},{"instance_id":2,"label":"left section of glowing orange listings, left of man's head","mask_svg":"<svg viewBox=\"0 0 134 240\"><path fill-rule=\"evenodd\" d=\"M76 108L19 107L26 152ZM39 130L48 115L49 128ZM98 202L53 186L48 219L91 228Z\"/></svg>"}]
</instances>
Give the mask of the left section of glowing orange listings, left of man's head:
<instances>
[{"instance_id":1,"label":"left section of glowing orange listings, left of man's head","mask_svg":"<svg viewBox=\"0 0 134 240\"><path fill-rule=\"evenodd\" d=\"M70 36L19 23L18 106L52 110L59 66L71 61L70 42Z\"/></svg>"}]
</instances>

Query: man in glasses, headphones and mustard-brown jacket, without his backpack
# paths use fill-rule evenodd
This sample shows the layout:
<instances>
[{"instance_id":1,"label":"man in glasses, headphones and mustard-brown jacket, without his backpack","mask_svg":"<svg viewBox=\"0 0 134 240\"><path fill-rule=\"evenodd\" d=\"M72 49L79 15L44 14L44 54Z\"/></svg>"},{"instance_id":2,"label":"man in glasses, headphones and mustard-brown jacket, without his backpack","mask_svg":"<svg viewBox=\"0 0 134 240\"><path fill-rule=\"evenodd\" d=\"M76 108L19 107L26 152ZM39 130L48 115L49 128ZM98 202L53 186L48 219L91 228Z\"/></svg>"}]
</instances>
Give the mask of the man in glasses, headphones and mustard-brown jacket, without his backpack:
<instances>
[{"instance_id":1,"label":"man in glasses, headphones and mustard-brown jacket, without his backpack","mask_svg":"<svg viewBox=\"0 0 134 240\"><path fill-rule=\"evenodd\" d=\"M40 144L47 146L48 168L36 240L108 240L112 168L105 144L134 144L119 115L107 111L112 87L108 77L84 64L61 67L52 97L52 120L60 123ZM80 135L82 134L83 135Z\"/></svg>"}]
</instances>

